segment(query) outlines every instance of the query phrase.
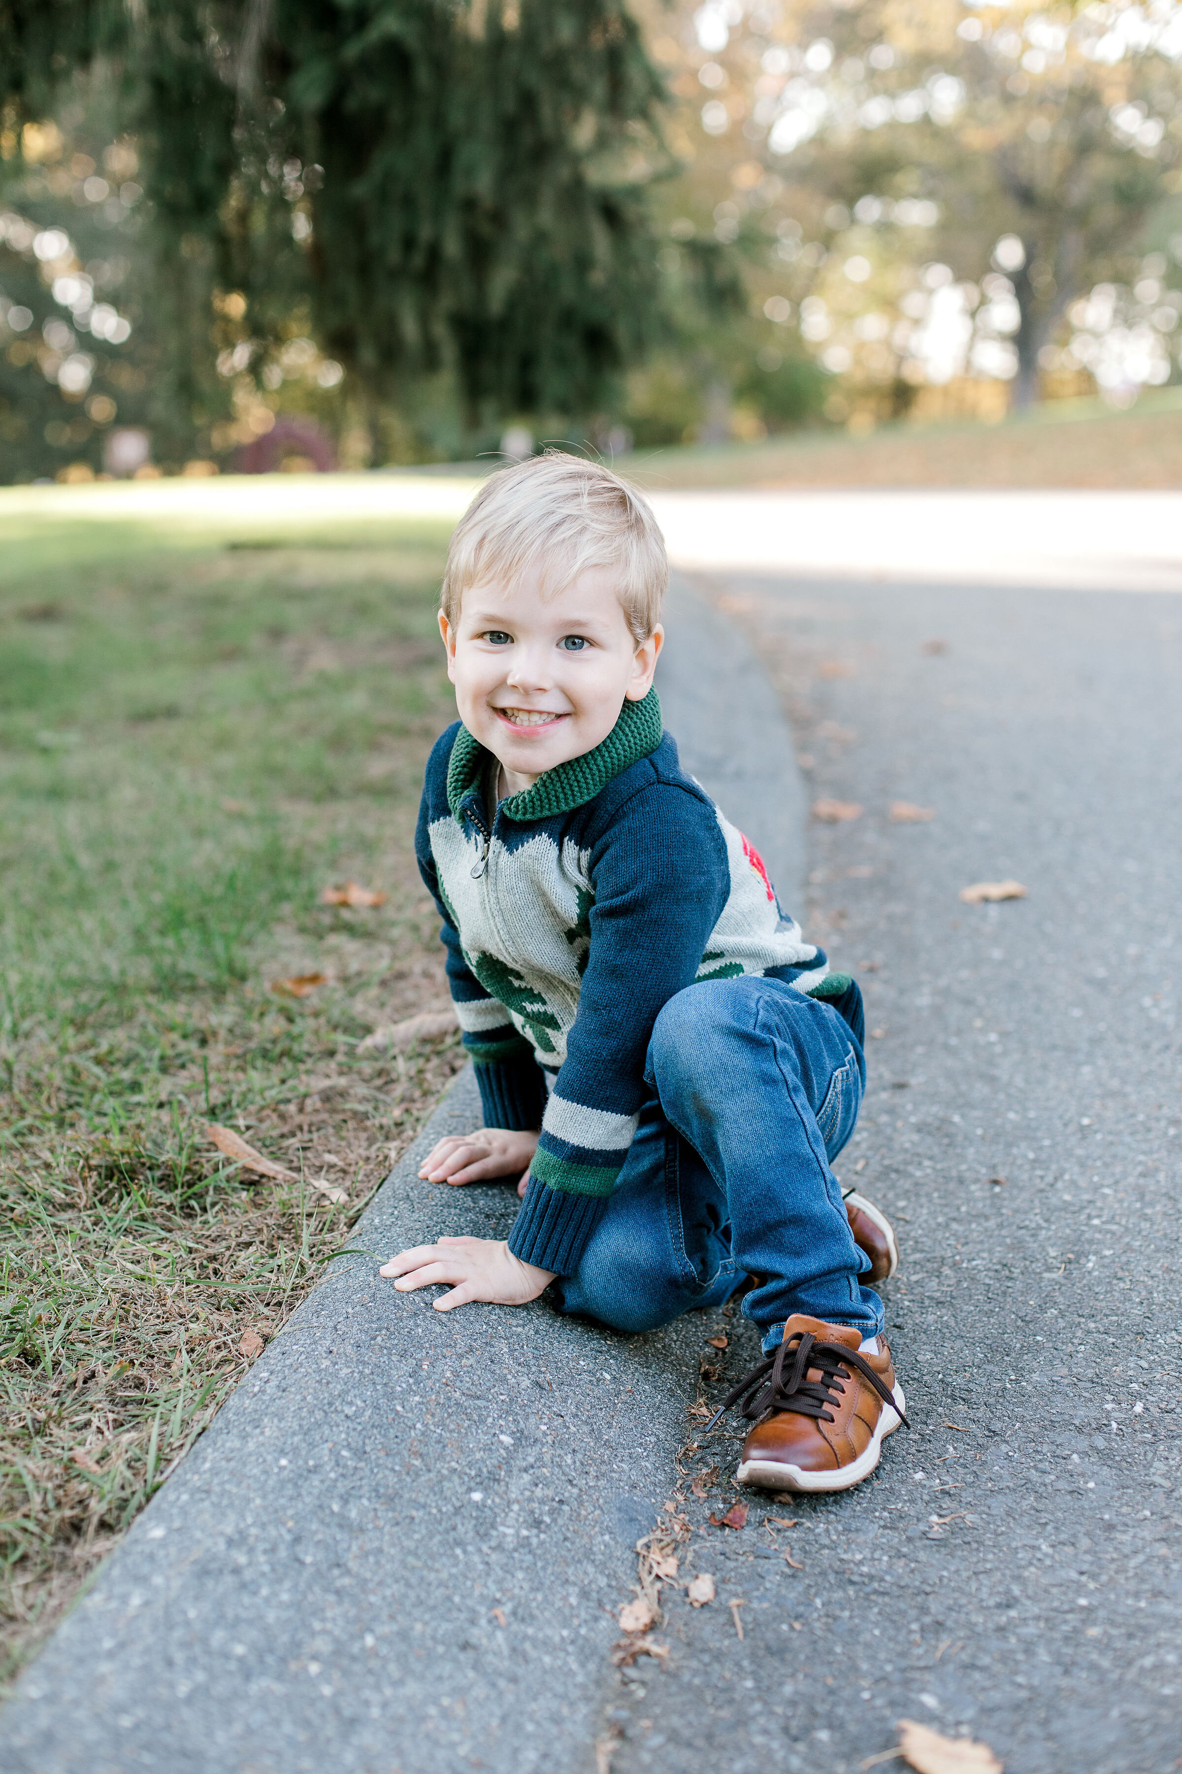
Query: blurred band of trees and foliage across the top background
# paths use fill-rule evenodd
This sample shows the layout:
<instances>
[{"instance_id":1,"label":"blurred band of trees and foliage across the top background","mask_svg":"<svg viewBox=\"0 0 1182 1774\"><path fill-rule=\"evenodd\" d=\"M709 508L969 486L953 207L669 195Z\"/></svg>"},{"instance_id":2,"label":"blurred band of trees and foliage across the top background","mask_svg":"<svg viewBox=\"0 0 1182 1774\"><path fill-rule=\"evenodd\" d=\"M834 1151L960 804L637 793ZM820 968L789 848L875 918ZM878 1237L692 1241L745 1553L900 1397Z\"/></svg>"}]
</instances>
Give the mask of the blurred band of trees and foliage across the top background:
<instances>
[{"instance_id":1,"label":"blurred band of trees and foliage across the top background","mask_svg":"<svg viewBox=\"0 0 1182 1774\"><path fill-rule=\"evenodd\" d=\"M1173 0L0 0L0 479L1127 406L1180 101Z\"/></svg>"}]
</instances>

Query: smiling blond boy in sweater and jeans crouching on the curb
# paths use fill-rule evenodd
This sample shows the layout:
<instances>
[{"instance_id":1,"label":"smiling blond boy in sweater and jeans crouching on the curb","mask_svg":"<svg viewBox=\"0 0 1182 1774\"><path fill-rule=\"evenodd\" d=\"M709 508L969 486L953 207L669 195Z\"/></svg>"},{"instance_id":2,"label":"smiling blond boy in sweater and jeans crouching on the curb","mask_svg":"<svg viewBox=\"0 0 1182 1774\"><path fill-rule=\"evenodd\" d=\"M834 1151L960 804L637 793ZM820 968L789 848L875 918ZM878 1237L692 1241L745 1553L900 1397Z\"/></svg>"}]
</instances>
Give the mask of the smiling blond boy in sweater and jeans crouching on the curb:
<instances>
[{"instance_id":1,"label":"smiling blond boy in sweater and jeans crouching on the curb","mask_svg":"<svg viewBox=\"0 0 1182 1774\"><path fill-rule=\"evenodd\" d=\"M766 1361L728 1396L739 1480L845 1490L902 1419L883 1306L895 1238L829 1169L865 1080L861 995L780 912L758 853L688 777L652 674L668 584L652 511L572 456L494 474L463 518L439 632L459 722L418 866L487 1126L420 1176L517 1178L509 1240L381 1274L434 1304L652 1330L746 1284Z\"/></svg>"}]
</instances>

